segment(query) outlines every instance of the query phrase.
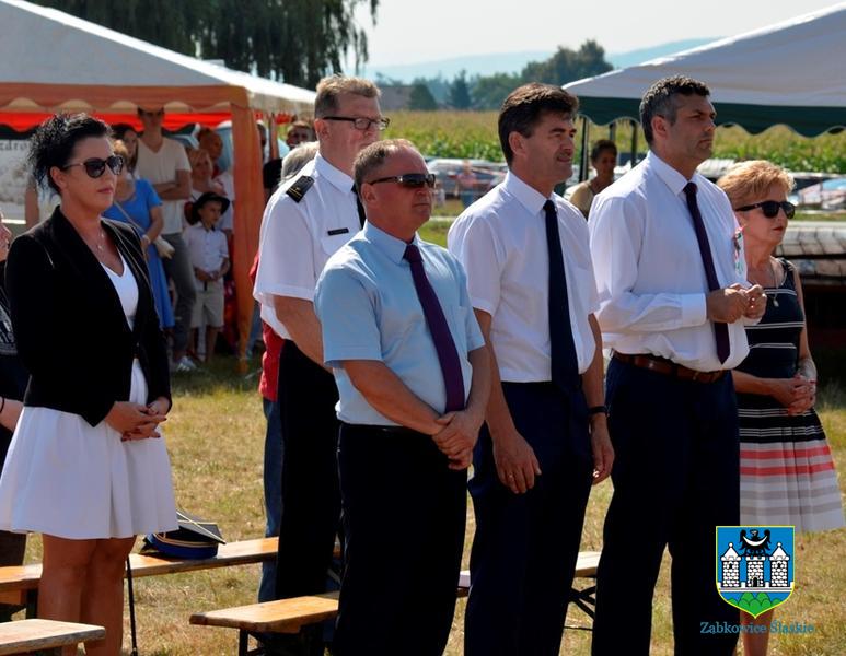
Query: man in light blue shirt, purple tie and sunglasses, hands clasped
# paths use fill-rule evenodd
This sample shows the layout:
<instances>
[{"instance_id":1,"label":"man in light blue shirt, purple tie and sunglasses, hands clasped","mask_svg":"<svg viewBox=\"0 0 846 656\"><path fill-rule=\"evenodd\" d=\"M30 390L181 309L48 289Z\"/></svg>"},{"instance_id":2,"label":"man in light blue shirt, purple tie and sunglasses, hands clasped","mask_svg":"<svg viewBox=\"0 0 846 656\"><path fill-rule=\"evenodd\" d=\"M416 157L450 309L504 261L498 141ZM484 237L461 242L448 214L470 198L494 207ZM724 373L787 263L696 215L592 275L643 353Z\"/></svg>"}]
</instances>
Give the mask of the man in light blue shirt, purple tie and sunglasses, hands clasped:
<instances>
[{"instance_id":1,"label":"man in light blue shirt, purple tie and sunglasses, hands clasped","mask_svg":"<svg viewBox=\"0 0 846 656\"><path fill-rule=\"evenodd\" d=\"M461 265L417 237L434 185L420 154L381 141L359 154L355 174L367 224L329 258L315 291L340 395L346 549L334 653L441 654L487 352Z\"/></svg>"}]
</instances>

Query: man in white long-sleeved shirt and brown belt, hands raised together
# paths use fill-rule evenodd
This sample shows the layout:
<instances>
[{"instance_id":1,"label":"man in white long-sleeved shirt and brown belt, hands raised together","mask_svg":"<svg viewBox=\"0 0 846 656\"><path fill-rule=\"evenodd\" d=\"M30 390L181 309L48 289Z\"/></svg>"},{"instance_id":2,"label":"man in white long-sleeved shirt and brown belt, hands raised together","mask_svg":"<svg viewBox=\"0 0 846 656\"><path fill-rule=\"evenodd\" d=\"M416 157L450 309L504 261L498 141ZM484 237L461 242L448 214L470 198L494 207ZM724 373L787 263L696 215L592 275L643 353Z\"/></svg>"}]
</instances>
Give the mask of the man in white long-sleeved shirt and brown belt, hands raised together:
<instances>
[{"instance_id":1,"label":"man in white long-sleeved shirt and brown belt, hands raised together","mask_svg":"<svg viewBox=\"0 0 846 656\"><path fill-rule=\"evenodd\" d=\"M664 547L673 558L676 654L729 655L739 621L717 594L715 527L739 522L738 415L730 370L766 298L746 282L726 195L696 173L710 156L705 84L660 80L640 104L651 152L594 201L596 314L616 460L599 566L593 654L648 654Z\"/></svg>"}]
</instances>

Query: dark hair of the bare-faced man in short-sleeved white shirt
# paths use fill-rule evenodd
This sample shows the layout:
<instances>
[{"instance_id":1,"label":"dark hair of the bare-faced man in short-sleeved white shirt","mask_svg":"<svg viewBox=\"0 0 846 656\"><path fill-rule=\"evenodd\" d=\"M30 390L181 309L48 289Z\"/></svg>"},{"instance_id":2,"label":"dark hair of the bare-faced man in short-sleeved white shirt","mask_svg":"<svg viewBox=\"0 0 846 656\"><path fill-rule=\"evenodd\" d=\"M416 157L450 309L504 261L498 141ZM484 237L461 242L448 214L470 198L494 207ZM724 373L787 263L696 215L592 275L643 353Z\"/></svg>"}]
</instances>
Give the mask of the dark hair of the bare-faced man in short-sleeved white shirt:
<instances>
[{"instance_id":1,"label":"dark hair of the bare-faced man in short-sleeved white shirt","mask_svg":"<svg viewBox=\"0 0 846 656\"><path fill-rule=\"evenodd\" d=\"M579 99L560 86L532 82L519 86L506 98L499 110L499 143L510 165L514 153L508 143L511 132L531 137L545 114L567 114L579 109Z\"/></svg>"}]
</instances>

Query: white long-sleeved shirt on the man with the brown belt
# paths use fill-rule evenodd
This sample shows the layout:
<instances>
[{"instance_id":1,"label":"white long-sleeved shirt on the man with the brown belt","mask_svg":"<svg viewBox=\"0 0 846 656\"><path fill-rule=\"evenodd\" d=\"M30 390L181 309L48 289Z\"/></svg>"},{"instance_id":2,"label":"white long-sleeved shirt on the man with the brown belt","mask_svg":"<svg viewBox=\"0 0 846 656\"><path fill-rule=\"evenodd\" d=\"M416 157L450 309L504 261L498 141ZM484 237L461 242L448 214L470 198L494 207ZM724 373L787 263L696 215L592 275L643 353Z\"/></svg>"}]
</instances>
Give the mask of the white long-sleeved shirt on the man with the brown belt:
<instances>
[{"instance_id":1,"label":"white long-sleeved shirt on the man with the brown belt","mask_svg":"<svg viewBox=\"0 0 846 656\"><path fill-rule=\"evenodd\" d=\"M695 173L696 201L720 286L746 282L743 241L729 199ZM685 177L654 153L593 201L590 239L605 345L651 353L708 372L733 368L749 352L744 321L729 325L721 364L706 318L708 282L687 208Z\"/></svg>"}]
</instances>

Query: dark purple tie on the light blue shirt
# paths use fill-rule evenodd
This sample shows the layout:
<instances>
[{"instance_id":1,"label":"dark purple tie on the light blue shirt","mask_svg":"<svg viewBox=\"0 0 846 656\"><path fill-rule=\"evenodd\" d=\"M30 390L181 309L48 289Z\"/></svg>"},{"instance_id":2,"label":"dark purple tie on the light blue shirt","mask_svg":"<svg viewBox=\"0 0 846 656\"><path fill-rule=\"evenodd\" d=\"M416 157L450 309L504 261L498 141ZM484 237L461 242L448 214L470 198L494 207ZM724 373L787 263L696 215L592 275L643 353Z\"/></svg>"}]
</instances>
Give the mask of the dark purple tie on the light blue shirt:
<instances>
[{"instance_id":1,"label":"dark purple tie on the light blue shirt","mask_svg":"<svg viewBox=\"0 0 846 656\"><path fill-rule=\"evenodd\" d=\"M429 284L429 279L426 278L420 250L414 244L408 244L403 257L412 266L412 280L417 290L417 298L422 306L426 324L429 326L429 332L432 333L434 350L438 351L438 361L441 363L443 384L447 387L444 412L464 410L464 376L461 373L459 352L455 350L455 342L452 341L450 327L443 317L438 296Z\"/></svg>"}]
</instances>

